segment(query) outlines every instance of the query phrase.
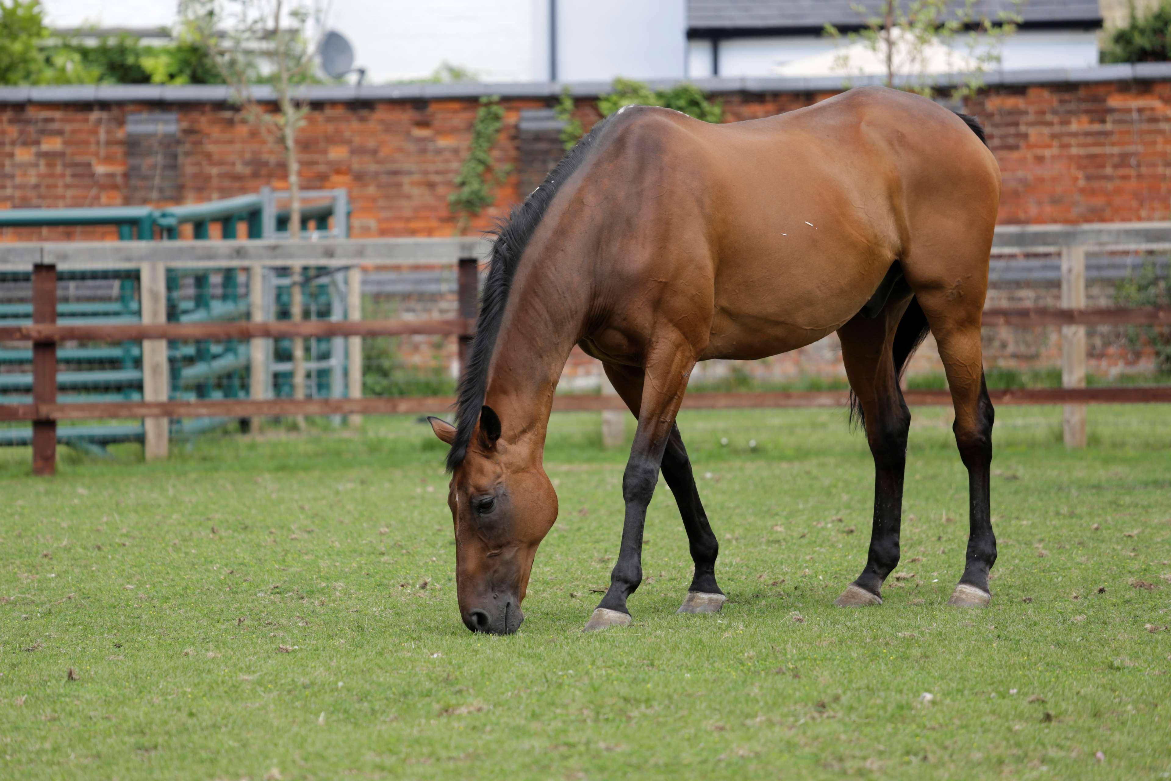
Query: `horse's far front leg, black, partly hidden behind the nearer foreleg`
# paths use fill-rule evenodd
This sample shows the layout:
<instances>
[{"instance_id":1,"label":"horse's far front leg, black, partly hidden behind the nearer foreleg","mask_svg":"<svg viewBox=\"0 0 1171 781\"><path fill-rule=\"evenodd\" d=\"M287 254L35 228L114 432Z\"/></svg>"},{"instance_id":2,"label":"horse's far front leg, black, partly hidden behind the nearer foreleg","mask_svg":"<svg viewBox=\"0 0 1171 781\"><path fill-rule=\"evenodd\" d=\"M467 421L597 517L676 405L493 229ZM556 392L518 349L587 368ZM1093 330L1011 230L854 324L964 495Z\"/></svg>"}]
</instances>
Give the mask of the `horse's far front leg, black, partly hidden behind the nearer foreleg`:
<instances>
[{"instance_id":1,"label":"horse's far front leg, black, partly hidden behind the nearer foreleg","mask_svg":"<svg viewBox=\"0 0 1171 781\"><path fill-rule=\"evenodd\" d=\"M628 366L611 364L604 366L615 390L637 418L643 396L643 372ZM718 612L727 600L715 584L715 557L719 555L720 544L699 500L699 489L691 473L691 459L687 458L687 448L683 445L678 424L671 427L671 438L663 452L662 471L679 507L683 528L687 533L691 547L691 559L696 563L696 571L679 612Z\"/></svg>"}]
</instances>

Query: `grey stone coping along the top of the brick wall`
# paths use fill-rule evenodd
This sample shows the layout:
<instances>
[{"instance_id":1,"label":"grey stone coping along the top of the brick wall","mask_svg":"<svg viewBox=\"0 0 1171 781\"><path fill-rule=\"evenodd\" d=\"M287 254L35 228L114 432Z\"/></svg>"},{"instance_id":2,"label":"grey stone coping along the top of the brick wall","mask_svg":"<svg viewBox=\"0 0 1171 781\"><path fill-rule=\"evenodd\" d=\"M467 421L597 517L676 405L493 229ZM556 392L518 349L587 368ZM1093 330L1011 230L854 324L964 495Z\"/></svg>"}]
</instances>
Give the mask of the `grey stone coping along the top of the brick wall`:
<instances>
[{"instance_id":1,"label":"grey stone coping along the top of the brick wall","mask_svg":"<svg viewBox=\"0 0 1171 781\"><path fill-rule=\"evenodd\" d=\"M903 78L902 84L926 81L936 87L956 84L963 75L949 74L926 80ZM1043 70L1005 70L984 74L989 87L1021 84L1084 84L1107 81L1153 81L1171 78L1171 62L1137 62L1097 66L1095 68L1054 68ZM856 76L851 87L881 84L879 76ZM651 87L664 88L692 83L713 94L748 93L814 93L842 89L843 76L795 78L789 76L712 77L692 80L651 81ZM552 98L564 88L575 97L596 97L610 89L609 82L508 82L452 84L351 84L307 87L303 96L313 101L337 103L368 101L433 101L467 100L499 95L500 97ZM267 84L252 88L258 101L273 101ZM162 87L156 84L78 84L64 87L0 87L0 103L220 103L232 98L228 87L187 84Z\"/></svg>"}]
</instances>

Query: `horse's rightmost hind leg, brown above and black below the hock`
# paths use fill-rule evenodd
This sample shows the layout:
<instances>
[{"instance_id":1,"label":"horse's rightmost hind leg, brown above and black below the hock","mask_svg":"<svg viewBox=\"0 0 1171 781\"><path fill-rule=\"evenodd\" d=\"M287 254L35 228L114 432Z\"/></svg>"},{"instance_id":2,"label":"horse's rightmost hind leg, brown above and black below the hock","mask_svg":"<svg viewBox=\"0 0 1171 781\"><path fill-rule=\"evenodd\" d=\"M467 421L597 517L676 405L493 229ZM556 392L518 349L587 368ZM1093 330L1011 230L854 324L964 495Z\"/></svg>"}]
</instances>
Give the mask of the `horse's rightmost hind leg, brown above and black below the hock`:
<instances>
[{"instance_id":1,"label":"horse's rightmost hind leg, brown above and black below the hock","mask_svg":"<svg viewBox=\"0 0 1171 781\"><path fill-rule=\"evenodd\" d=\"M966 279L966 278L965 278ZM986 279L986 278L985 278ZM912 282L912 287L915 287ZM989 471L992 468L992 402L984 383L980 349L980 316L985 287L963 289L930 286L916 297L931 326L943 358L956 407L956 444L967 467L967 556L959 585L947 604L985 608L992 600L988 570L997 561L997 537L992 533Z\"/></svg>"}]
</instances>

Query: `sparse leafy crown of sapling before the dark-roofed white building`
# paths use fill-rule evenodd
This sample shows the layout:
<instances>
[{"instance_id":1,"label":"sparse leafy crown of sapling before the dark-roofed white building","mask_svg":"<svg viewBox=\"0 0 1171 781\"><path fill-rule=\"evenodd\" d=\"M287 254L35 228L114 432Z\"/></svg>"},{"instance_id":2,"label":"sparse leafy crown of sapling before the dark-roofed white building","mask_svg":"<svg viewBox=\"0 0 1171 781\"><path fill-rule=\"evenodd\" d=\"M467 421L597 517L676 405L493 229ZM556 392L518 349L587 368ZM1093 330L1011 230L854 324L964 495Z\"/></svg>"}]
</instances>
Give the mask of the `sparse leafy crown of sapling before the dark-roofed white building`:
<instances>
[{"instance_id":1,"label":"sparse leafy crown of sapling before the dark-roofed white building","mask_svg":"<svg viewBox=\"0 0 1171 781\"><path fill-rule=\"evenodd\" d=\"M944 46L965 55L967 73L952 90L952 98L959 100L984 87L984 74L1000 63L1004 39L1015 33L1021 22L1015 12L1001 11L995 19L979 15L975 0L883 0L878 16L860 5L851 7L862 19L862 29L843 35L833 25L826 25L824 34L850 43L862 42L877 55L885 64L886 87L895 87L899 76L920 77L906 89L927 97L933 96L934 89L922 77L927 75L932 49ZM840 55L835 66L847 75L857 75L849 54Z\"/></svg>"}]
</instances>

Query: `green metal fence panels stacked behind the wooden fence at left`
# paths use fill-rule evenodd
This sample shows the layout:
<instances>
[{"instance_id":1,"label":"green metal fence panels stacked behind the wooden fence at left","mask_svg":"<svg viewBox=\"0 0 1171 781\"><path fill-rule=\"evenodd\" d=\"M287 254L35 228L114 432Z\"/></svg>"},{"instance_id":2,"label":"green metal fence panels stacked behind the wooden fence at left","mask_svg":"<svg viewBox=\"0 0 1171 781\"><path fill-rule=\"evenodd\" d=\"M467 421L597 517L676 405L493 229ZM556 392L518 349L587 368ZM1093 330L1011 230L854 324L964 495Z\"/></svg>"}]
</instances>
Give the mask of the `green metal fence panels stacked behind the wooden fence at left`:
<instances>
[{"instance_id":1,"label":"green metal fence panels stacked behind the wooden fence at left","mask_svg":"<svg viewBox=\"0 0 1171 781\"><path fill-rule=\"evenodd\" d=\"M349 237L349 198L344 190L307 191L303 193L302 224L307 238L314 235ZM197 240L211 238L211 225L219 224L224 239L237 239L240 225L249 239L276 238L288 229L288 210L278 210L276 201L287 198L263 189L260 193L225 198L204 204L151 208L149 206L116 206L96 208L15 208L0 210L0 228L37 226L111 226L118 239L169 240L178 239L183 225L190 224ZM336 269L304 269L303 318L344 317L344 292L338 295ZM57 321L61 323L135 323L142 320L139 275L136 269L62 270L62 286L110 282L115 287L100 299L59 301ZM5 272L0 282L28 285L29 273ZM268 272L266 293L279 299L266 308L275 318L288 318L288 275ZM246 320L249 316L248 296L241 292L241 279L234 268L167 269L167 321L208 322ZM279 311L272 311L273 309ZM0 323L6 326L32 322L32 304L25 301L0 301ZM344 392L344 350L338 340L306 340L309 374L307 390L321 397ZM292 396L292 340L278 340L269 362L267 383L274 396ZM214 343L167 343L172 399L239 398L249 386L249 354L247 342L239 340ZM0 348L0 403L29 403L32 350ZM142 399L142 345L138 342L121 344L80 344L59 348L57 388L61 403ZM285 364L285 365L281 365ZM231 420L201 419L172 422L172 434L194 436ZM66 445L93 451L117 441L143 439L139 426L59 426L57 440ZM27 444L27 427L0 429L0 445Z\"/></svg>"}]
</instances>

